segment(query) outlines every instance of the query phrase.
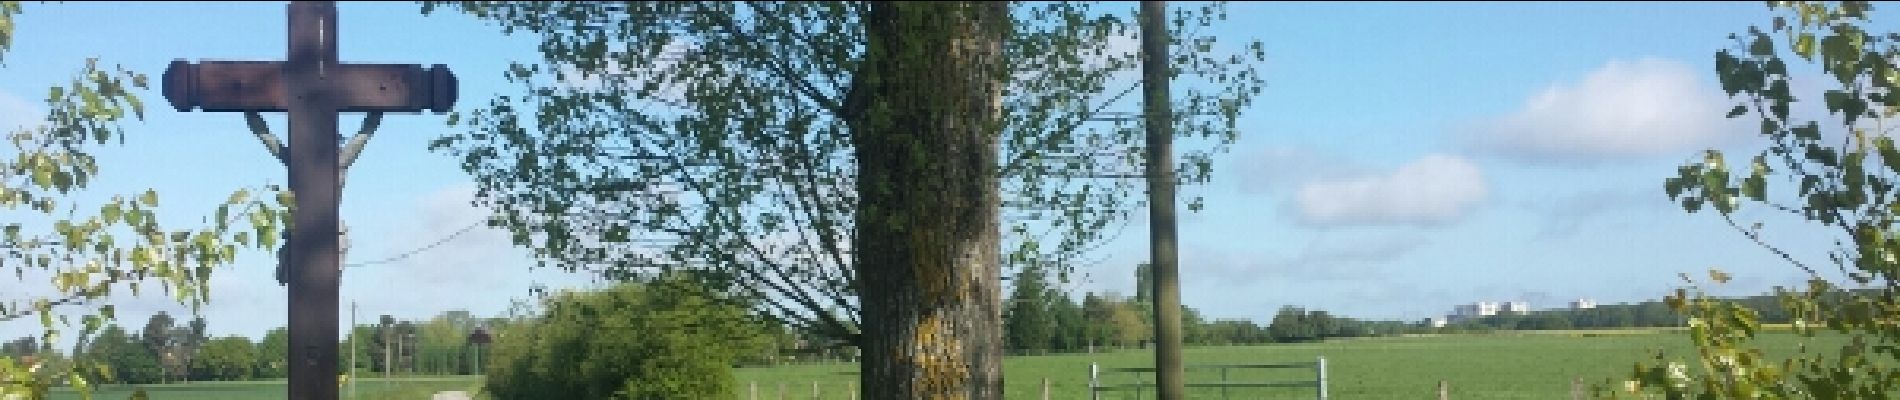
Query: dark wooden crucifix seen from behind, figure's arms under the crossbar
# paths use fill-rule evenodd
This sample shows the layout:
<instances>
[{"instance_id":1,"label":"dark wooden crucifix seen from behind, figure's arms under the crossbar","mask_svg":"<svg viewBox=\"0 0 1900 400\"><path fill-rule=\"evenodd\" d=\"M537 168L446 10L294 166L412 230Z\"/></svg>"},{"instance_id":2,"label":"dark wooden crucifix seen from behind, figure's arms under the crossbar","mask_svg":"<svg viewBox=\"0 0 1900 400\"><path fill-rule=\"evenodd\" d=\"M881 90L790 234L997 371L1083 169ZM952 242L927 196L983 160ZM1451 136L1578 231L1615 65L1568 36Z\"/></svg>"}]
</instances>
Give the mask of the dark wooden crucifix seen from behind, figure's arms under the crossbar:
<instances>
[{"instance_id":1,"label":"dark wooden crucifix seen from behind, figure's arms under the crossbar","mask_svg":"<svg viewBox=\"0 0 1900 400\"><path fill-rule=\"evenodd\" d=\"M334 400L344 169L384 112L448 112L456 78L443 64L338 63L334 2L291 2L289 15L287 61L173 61L163 91L179 112L243 112L251 133L289 169L296 205L277 265L291 292L289 398ZM258 112L291 114L289 146L270 135ZM338 112L369 114L342 152Z\"/></svg>"}]
</instances>

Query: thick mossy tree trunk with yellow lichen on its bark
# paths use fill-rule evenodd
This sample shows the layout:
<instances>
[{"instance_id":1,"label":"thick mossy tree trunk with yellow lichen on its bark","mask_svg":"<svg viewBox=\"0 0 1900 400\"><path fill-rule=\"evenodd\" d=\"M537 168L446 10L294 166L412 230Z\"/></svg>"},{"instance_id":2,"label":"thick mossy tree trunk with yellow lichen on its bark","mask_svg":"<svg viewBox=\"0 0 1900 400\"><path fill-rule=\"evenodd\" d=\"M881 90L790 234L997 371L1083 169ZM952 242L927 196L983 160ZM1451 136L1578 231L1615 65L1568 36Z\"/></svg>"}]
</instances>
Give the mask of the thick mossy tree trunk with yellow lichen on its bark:
<instances>
[{"instance_id":1,"label":"thick mossy tree trunk with yellow lichen on its bark","mask_svg":"<svg viewBox=\"0 0 1900 400\"><path fill-rule=\"evenodd\" d=\"M849 100L866 400L1003 398L1005 4L876 2Z\"/></svg>"}]
</instances>

